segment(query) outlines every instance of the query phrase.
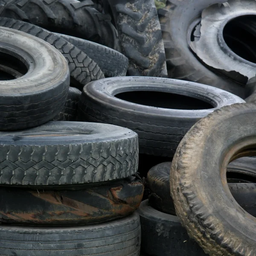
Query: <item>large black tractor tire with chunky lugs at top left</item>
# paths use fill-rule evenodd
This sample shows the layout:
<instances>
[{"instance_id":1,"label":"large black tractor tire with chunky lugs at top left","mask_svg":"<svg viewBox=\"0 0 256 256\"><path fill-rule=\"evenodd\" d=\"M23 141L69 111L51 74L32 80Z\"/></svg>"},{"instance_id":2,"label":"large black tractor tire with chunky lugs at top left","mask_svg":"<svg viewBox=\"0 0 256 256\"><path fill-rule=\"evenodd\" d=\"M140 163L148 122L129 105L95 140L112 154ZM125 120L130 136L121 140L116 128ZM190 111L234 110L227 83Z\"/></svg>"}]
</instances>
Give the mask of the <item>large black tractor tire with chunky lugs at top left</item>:
<instances>
[{"instance_id":1,"label":"large black tractor tire with chunky lugs at top left","mask_svg":"<svg viewBox=\"0 0 256 256\"><path fill-rule=\"evenodd\" d=\"M0 0L0 4L2 17L120 49L110 15L94 9L91 0Z\"/></svg>"}]
</instances>

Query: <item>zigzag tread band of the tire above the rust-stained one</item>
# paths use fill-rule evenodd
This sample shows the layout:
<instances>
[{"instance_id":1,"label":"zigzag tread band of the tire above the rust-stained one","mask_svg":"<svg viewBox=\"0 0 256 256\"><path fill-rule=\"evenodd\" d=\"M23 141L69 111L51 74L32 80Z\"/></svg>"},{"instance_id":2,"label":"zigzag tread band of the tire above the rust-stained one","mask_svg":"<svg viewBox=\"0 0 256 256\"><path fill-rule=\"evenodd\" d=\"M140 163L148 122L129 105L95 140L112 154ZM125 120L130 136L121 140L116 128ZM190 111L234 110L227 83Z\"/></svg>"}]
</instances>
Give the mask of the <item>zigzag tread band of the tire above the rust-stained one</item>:
<instances>
[{"instance_id":1,"label":"zigzag tread band of the tire above the rust-stained one","mask_svg":"<svg viewBox=\"0 0 256 256\"><path fill-rule=\"evenodd\" d=\"M137 172L138 140L66 145L0 145L0 184L102 182Z\"/></svg>"}]
</instances>

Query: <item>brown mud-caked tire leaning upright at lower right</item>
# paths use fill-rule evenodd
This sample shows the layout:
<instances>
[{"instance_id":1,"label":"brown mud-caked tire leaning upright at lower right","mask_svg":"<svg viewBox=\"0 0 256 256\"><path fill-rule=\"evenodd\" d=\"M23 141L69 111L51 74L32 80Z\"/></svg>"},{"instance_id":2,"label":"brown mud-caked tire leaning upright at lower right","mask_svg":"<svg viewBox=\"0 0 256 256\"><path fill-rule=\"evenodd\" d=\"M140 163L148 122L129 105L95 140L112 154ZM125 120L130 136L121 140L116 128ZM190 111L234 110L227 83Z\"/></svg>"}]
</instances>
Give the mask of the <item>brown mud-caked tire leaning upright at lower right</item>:
<instances>
[{"instance_id":1,"label":"brown mud-caked tire leaning upright at lower right","mask_svg":"<svg viewBox=\"0 0 256 256\"><path fill-rule=\"evenodd\" d=\"M233 199L225 177L231 159L254 154L255 113L255 104L234 104L209 114L184 136L172 161L176 213L209 255L256 252L255 219Z\"/></svg>"}]
</instances>

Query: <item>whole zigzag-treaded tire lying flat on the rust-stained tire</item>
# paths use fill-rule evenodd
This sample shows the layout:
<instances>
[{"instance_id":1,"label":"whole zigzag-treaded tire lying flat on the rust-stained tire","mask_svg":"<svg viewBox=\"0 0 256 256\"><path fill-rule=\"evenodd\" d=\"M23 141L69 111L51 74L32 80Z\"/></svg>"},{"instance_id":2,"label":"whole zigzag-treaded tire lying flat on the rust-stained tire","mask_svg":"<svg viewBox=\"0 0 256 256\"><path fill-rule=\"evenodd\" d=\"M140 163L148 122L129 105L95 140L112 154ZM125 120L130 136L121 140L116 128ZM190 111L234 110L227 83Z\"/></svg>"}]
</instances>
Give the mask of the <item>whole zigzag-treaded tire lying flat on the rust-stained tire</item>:
<instances>
[{"instance_id":1,"label":"whole zigzag-treaded tire lying flat on the rust-stained tire","mask_svg":"<svg viewBox=\"0 0 256 256\"><path fill-rule=\"evenodd\" d=\"M0 184L56 186L122 179L137 172L138 137L106 124L48 122L0 133Z\"/></svg>"}]
</instances>

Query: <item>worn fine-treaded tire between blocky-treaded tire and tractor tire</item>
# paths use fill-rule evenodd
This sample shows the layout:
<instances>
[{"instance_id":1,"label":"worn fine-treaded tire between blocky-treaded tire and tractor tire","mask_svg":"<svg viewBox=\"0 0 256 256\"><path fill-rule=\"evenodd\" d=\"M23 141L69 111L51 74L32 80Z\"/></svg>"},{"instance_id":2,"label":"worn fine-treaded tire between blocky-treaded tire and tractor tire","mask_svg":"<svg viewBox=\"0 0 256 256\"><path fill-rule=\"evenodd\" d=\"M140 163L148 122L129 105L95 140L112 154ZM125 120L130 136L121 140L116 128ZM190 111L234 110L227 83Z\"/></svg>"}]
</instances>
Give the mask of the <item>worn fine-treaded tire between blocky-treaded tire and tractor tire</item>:
<instances>
[{"instance_id":1,"label":"worn fine-treaded tire between blocky-treaded tire and tractor tire","mask_svg":"<svg viewBox=\"0 0 256 256\"><path fill-rule=\"evenodd\" d=\"M85 52L99 65L105 77L126 75L128 58L126 58L122 53L104 45L96 44L81 38L75 38L70 35L55 34L69 41L71 44Z\"/></svg>"}]
</instances>

